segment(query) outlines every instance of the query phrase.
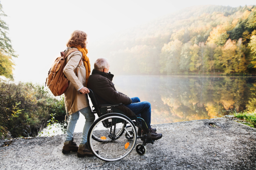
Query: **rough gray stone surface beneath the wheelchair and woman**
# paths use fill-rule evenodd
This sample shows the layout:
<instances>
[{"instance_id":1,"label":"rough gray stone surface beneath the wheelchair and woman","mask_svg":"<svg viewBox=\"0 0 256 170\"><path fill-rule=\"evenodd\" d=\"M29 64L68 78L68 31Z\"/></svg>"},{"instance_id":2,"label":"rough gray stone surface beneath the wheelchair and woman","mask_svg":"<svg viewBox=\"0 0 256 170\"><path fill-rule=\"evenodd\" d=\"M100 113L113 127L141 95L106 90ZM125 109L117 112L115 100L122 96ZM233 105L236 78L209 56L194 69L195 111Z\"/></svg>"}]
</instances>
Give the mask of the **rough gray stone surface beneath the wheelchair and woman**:
<instances>
[{"instance_id":1,"label":"rough gray stone surface beneath the wheelchair and woman","mask_svg":"<svg viewBox=\"0 0 256 170\"><path fill-rule=\"evenodd\" d=\"M95 157L62 154L64 135L17 139L0 147L0 169L256 169L256 129L229 118L154 125L163 138L134 150L124 159L106 162ZM81 133L74 138L79 143ZM3 144L5 141L0 141ZM137 143L140 143L138 139Z\"/></svg>"}]
</instances>

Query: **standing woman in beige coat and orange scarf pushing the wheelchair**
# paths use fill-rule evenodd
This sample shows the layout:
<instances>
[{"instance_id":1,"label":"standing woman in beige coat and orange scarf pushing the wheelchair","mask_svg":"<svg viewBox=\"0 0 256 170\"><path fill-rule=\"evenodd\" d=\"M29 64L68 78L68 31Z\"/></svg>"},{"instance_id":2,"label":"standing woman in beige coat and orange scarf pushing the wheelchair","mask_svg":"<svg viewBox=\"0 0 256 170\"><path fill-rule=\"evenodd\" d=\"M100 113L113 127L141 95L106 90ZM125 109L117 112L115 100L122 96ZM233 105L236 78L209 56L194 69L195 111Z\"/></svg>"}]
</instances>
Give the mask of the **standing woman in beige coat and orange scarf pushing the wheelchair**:
<instances>
[{"instance_id":1,"label":"standing woman in beige coat and orange scarf pushing the wheelchair","mask_svg":"<svg viewBox=\"0 0 256 170\"><path fill-rule=\"evenodd\" d=\"M70 80L67 91L64 93L64 101L66 112L70 115L67 125L67 135L62 149L62 153L70 153L70 151L78 152L78 157L93 156L87 147L87 134L90 126L93 124L95 116L91 112L87 93L89 93L87 81L90 76L90 60L87 57L87 34L84 31L74 31L71 34L70 40L67 42L67 49L64 51L67 54L70 50L78 49L79 51L72 52L66 57L64 74ZM82 58L82 65L79 68L78 75L75 74L75 69L79 65ZM86 121L81 137L79 147L73 142L73 133L76 122L79 119L79 112L84 115Z\"/></svg>"}]
</instances>

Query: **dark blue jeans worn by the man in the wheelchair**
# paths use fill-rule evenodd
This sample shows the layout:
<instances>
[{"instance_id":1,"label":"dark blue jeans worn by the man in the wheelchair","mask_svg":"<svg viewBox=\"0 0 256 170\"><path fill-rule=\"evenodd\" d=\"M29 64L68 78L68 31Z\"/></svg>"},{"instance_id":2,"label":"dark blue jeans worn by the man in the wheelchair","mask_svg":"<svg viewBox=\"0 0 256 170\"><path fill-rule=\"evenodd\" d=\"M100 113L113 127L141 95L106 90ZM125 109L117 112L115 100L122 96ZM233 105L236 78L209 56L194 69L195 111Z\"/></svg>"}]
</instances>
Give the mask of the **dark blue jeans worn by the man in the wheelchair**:
<instances>
[{"instance_id":1,"label":"dark blue jeans worn by the man in the wheelchair","mask_svg":"<svg viewBox=\"0 0 256 170\"><path fill-rule=\"evenodd\" d=\"M127 108L131 109L137 116L145 120L148 128L151 128L151 104L150 102L140 102L139 97L131 98L132 103L125 105Z\"/></svg>"}]
</instances>

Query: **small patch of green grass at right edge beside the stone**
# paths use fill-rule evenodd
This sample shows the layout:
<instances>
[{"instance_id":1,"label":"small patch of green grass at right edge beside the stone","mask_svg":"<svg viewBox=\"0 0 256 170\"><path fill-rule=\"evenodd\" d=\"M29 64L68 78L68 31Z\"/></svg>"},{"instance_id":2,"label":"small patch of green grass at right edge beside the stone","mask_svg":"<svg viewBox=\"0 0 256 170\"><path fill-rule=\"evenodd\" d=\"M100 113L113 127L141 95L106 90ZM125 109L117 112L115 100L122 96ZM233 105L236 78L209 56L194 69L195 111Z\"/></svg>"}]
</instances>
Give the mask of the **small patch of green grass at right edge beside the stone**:
<instances>
[{"instance_id":1,"label":"small patch of green grass at right edge beside the stone","mask_svg":"<svg viewBox=\"0 0 256 170\"><path fill-rule=\"evenodd\" d=\"M256 128L256 110L252 113L249 113L248 111L243 111L238 113L236 112L236 110L234 110L233 112L231 112L231 115L234 115L236 118L243 121L243 122L241 121L237 121L237 122Z\"/></svg>"}]
</instances>

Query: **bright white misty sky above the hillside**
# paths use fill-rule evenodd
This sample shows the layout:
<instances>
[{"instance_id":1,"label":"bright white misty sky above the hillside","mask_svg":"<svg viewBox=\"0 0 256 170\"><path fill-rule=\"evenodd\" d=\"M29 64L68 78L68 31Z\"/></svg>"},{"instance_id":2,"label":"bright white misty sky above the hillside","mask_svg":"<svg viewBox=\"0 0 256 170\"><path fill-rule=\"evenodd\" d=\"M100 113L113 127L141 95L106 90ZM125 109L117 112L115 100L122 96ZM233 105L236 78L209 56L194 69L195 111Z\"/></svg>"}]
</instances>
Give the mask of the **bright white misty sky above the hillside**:
<instances>
[{"instance_id":1,"label":"bright white misty sky above the hillside","mask_svg":"<svg viewBox=\"0 0 256 170\"><path fill-rule=\"evenodd\" d=\"M90 45L111 34L147 23L185 7L244 6L255 0L1 0L16 54L15 82L44 83L52 62L74 30L88 34ZM100 50L100 49L99 49ZM99 56L100 57L100 56ZM90 61L93 66L94 61Z\"/></svg>"}]
</instances>

